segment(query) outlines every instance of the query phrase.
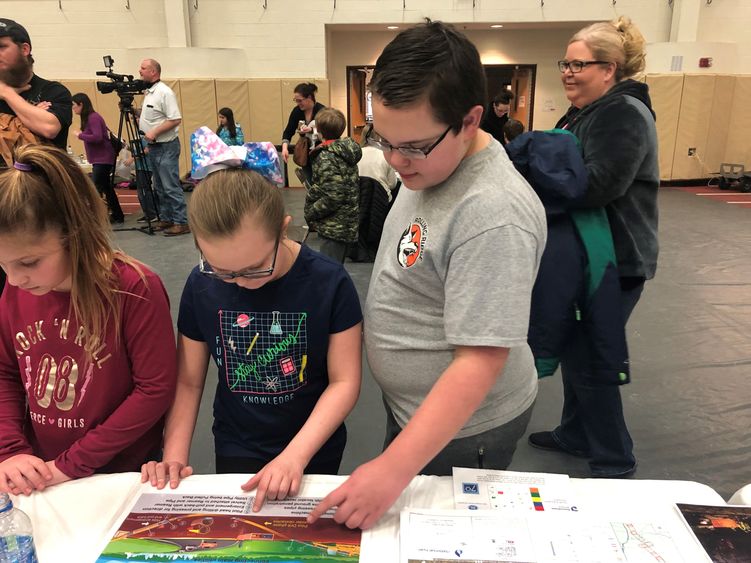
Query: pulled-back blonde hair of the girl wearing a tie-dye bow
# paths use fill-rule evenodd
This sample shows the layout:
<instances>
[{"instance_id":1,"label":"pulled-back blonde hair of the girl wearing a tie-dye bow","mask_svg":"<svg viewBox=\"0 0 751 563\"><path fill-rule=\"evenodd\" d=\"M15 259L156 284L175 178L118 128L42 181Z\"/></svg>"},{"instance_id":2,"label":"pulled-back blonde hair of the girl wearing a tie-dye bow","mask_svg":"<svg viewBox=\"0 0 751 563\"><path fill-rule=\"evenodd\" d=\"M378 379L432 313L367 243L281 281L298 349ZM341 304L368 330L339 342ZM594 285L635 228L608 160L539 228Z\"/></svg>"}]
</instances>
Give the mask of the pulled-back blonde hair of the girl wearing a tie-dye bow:
<instances>
[{"instance_id":1,"label":"pulled-back blonde hair of the girl wearing a tie-dye bow","mask_svg":"<svg viewBox=\"0 0 751 563\"><path fill-rule=\"evenodd\" d=\"M228 237L252 215L266 231L276 236L284 221L284 200L260 174L241 169L218 170L201 182L188 204L188 223L195 236L204 239Z\"/></svg>"}]
</instances>

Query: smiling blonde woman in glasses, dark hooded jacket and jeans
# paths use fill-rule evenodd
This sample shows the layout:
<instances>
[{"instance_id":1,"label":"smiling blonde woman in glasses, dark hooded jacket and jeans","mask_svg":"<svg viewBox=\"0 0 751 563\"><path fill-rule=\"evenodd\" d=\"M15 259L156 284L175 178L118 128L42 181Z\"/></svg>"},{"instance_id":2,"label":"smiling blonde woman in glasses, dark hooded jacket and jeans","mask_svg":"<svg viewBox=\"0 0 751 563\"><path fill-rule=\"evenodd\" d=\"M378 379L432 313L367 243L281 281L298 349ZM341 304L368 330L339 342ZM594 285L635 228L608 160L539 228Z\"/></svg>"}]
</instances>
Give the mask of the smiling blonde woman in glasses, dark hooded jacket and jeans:
<instances>
[{"instance_id":1,"label":"smiling blonde woman in glasses, dark hooded jacket and jeans","mask_svg":"<svg viewBox=\"0 0 751 563\"><path fill-rule=\"evenodd\" d=\"M657 133L649 89L632 80L644 70L645 41L628 18L585 27L559 61L571 102L557 127L574 133L587 170L583 207L603 207L615 245L623 322L657 266ZM580 323L582 324L582 323ZM593 343L579 330L561 358L563 413L552 432L531 445L590 458L596 477L636 469L617 384L598 379Z\"/></svg>"}]
</instances>

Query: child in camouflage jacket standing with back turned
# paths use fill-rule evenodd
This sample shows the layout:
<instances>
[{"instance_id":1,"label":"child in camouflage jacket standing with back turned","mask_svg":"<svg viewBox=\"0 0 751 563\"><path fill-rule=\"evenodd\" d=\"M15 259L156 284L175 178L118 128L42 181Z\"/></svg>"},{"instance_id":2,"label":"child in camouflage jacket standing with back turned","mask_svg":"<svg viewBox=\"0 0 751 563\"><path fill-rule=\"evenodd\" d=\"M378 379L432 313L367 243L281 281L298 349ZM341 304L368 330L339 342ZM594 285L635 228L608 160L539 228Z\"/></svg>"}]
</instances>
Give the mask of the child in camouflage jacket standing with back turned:
<instances>
[{"instance_id":1,"label":"child in camouflage jacket standing with back turned","mask_svg":"<svg viewBox=\"0 0 751 563\"><path fill-rule=\"evenodd\" d=\"M359 182L357 163L362 150L353 139L341 139L344 114L325 108L316 114L322 138L313 159L313 181L305 197L305 220L318 231L319 251L344 262L347 247L357 242Z\"/></svg>"}]
</instances>

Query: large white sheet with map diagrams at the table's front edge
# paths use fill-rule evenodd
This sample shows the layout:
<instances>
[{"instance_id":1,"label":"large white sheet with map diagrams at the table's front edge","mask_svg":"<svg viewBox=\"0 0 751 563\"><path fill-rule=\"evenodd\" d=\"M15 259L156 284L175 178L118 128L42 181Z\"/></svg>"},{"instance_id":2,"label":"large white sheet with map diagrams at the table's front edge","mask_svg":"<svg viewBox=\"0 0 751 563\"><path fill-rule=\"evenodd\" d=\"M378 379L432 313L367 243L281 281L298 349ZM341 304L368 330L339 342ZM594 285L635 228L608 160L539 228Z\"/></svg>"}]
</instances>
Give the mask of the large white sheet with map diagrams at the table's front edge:
<instances>
[{"instance_id":1,"label":"large white sheet with map diagrams at the table's front edge","mask_svg":"<svg viewBox=\"0 0 751 563\"><path fill-rule=\"evenodd\" d=\"M690 560L663 526L608 522L574 512L407 509L400 523L402 563Z\"/></svg>"}]
</instances>

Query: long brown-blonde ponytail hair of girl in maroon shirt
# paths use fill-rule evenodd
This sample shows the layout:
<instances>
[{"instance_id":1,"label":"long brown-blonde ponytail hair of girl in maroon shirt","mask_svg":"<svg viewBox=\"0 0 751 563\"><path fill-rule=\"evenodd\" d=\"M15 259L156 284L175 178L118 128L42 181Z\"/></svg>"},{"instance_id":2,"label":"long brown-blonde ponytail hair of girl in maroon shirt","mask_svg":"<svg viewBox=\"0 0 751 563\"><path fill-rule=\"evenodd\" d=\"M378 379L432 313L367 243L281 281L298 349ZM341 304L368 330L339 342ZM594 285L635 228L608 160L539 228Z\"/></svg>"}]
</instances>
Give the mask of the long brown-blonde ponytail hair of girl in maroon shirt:
<instances>
[{"instance_id":1,"label":"long brown-blonde ponytail hair of girl in maroon shirt","mask_svg":"<svg viewBox=\"0 0 751 563\"><path fill-rule=\"evenodd\" d=\"M86 353L91 359L94 340L104 335L108 322L114 322L119 337L120 289L113 261L132 264L143 277L140 263L113 249L104 202L64 152L26 145L15 157L31 169L11 167L0 173L0 235L60 233L70 257L71 308L90 344Z\"/></svg>"}]
</instances>

